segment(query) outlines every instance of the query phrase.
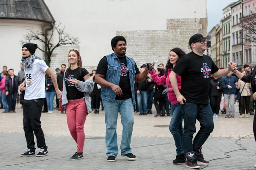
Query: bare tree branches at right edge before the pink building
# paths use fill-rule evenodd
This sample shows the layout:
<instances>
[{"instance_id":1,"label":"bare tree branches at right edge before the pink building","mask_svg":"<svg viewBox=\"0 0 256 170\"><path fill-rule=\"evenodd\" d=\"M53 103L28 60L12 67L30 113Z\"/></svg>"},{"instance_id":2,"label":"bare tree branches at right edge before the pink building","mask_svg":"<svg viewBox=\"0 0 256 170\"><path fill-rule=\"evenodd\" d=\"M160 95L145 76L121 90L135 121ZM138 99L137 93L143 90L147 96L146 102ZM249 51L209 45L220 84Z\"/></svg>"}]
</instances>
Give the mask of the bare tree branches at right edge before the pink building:
<instances>
[{"instance_id":1,"label":"bare tree branches at right edge before the pink building","mask_svg":"<svg viewBox=\"0 0 256 170\"><path fill-rule=\"evenodd\" d=\"M256 46L256 13L250 10L247 16L240 18L243 31L243 44Z\"/></svg>"}]
</instances>

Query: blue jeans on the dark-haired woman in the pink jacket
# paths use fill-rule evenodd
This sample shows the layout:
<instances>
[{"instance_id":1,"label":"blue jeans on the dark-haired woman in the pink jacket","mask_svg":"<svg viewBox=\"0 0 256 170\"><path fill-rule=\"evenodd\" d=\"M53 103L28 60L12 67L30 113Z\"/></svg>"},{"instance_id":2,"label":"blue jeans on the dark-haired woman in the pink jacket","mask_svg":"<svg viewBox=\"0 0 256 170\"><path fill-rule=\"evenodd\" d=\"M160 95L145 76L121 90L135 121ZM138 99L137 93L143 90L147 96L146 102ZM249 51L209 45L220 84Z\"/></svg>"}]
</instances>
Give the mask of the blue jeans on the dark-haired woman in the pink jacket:
<instances>
[{"instance_id":1,"label":"blue jeans on the dark-haired woman in the pink jacket","mask_svg":"<svg viewBox=\"0 0 256 170\"><path fill-rule=\"evenodd\" d=\"M184 114L184 105L180 105L180 103L172 105L171 111L172 119L169 125L169 130L172 133L172 136L175 141L176 153L177 155L180 155L184 153L182 148L182 117Z\"/></svg>"}]
</instances>

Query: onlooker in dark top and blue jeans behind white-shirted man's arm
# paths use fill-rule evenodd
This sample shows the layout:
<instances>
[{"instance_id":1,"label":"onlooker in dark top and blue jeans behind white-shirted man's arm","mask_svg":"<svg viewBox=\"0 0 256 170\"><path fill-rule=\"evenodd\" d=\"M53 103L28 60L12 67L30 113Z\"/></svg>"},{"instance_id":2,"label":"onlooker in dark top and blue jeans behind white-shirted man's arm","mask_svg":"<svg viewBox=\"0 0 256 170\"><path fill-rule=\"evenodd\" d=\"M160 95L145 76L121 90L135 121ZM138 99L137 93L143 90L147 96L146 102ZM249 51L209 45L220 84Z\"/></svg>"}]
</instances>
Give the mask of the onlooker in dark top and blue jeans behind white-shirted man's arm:
<instances>
[{"instance_id":1,"label":"onlooker in dark top and blue jeans behind white-shirted man's arm","mask_svg":"<svg viewBox=\"0 0 256 170\"><path fill-rule=\"evenodd\" d=\"M52 82L52 78L46 74L46 101L47 101L47 106L48 106L48 113L52 114L53 113L53 99L55 96L55 88Z\"/></svg>"}]
</instances>

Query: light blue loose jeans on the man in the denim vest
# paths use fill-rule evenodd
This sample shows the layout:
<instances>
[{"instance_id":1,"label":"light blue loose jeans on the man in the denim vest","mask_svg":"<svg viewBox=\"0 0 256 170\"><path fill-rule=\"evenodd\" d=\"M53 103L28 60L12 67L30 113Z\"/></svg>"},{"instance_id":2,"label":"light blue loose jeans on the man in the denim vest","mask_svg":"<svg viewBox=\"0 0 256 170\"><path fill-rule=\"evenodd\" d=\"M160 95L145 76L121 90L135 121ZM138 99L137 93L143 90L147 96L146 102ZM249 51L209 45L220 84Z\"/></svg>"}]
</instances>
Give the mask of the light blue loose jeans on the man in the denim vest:
<instances>
[{"instance_id":1,"label":"light blue loose jeans on the man in the denim vest","mask_svg":"<svg viewBox=\"0 0 256 170\"><path fill-rule=\"evenodd\" d=\"M114 100L109 102L102 99L105 108L105 123L106 123L106 147L107 156L117 156L118 145L116 136L116 124L118 112L121 115L121 123L123 125L121 154L131 153L131 135L134 125L134 113L132 99Z\"/></svg>"}]
</instances>

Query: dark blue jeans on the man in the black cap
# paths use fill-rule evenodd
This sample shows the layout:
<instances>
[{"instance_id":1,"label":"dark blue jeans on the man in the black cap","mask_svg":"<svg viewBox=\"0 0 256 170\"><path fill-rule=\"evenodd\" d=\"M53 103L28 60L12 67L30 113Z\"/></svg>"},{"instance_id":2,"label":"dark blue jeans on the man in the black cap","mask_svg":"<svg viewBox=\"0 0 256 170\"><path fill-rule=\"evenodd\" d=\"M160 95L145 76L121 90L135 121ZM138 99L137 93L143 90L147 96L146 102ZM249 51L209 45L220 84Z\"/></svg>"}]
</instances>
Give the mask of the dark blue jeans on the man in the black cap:
<instances>
[{"instance_id":1,"label":"dark blue jeans on the man in the black cap","mask_svg":"<svg viewBox=\"0 0 256 170\"><path fill-rule=\"evenodd\" d=\"M214 129L212 109L209 104L197 105L193 103L185 103L184 108L183 150L185 154L192 151L198 153ZM196 119L200 122L201 127L192 142L196 132Z\"/></svg>"}]
</instances>

